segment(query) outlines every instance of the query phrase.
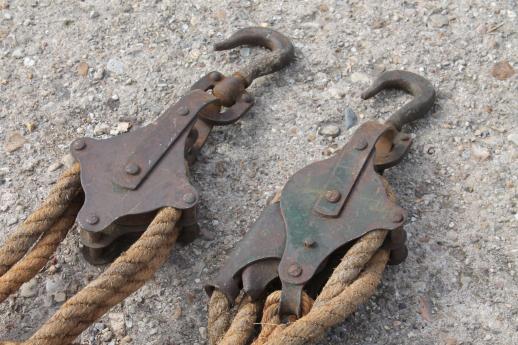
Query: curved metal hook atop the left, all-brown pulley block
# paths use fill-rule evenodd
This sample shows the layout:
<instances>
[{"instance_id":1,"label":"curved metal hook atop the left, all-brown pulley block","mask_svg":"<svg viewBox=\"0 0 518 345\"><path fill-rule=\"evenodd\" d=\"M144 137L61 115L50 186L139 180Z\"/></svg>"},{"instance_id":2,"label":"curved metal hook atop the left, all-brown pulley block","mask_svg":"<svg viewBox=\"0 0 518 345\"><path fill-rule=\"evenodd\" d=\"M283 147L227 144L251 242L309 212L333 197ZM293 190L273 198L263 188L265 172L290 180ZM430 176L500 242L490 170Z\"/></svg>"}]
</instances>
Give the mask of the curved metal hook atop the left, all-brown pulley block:
<instances>
[{"instance_id":1,"label":"curved metal hook atop the left, all-brown pulley block","mask_svg":"<svg viewBox=\"0 0 518 345\"><path fill-rule=\"evenodd\" d=\"M254 79L280 70L295 57L291 41L283 34L267 28L250 27L235 32L228 39L216 43L214 50L227 50L240 45L262 46L272 52L254 59L234 76L240 78L248 87Z\"/></svg>"}]
</instances>

